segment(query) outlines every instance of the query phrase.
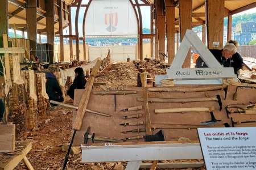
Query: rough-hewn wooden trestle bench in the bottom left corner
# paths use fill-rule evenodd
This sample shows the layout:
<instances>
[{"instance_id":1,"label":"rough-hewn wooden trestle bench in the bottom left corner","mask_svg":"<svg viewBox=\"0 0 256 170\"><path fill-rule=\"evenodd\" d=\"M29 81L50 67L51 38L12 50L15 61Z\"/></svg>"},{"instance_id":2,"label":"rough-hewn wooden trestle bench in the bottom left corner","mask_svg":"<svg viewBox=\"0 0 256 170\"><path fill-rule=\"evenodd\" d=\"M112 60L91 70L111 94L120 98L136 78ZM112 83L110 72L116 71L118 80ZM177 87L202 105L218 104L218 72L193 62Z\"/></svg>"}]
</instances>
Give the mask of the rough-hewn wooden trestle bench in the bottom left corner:
<instances>
[{"instance_id":1,"label":"rough-hewn wooden trestle bench in the bottom left corner","mask_svg":"<svg viewBox=\"0 0 256 170\"><path fill-rule=\"evenodd\" d=\"M27 169L34 170L26 155L32 148L32 141L16 141L15 151L0 154L0 170L14 169L21 161Z\"/></svg>"}]
</instances>

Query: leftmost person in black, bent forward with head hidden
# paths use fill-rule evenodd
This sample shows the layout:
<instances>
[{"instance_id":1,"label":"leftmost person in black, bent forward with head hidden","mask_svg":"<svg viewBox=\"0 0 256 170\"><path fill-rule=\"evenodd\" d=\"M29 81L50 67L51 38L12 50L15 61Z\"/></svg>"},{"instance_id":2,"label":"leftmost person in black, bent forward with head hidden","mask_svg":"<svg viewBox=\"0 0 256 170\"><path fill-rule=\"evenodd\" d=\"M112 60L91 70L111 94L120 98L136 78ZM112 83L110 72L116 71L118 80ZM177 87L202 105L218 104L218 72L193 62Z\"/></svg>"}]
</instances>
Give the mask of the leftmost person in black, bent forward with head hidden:
<instances>
[{"instance_id":1,"label":"leftmost person in black, bent forward with head hidden","mask_svg":"<svg viewBox=\"0 0 256 170\"><path fill-rule=\"evenodd\" d=\"M57 82L56 76L52 73L46 73L46 93L49 96L49 100L55 100L59 102L63 102L63 94Z\"/></svg>"}]
</instances>

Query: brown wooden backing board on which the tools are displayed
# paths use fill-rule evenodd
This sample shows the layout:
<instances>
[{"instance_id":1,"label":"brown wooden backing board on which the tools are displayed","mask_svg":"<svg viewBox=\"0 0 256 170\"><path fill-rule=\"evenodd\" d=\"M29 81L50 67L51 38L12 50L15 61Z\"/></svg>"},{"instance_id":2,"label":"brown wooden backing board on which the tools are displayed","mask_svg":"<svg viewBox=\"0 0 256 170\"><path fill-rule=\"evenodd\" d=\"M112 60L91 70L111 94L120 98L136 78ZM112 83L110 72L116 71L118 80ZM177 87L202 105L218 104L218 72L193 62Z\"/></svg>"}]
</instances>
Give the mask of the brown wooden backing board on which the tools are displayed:
<instances>
[{"instance_id":1,"label":"brown wooden backing board on which the tools are displayed","mask_svg":"<svg viewBox=\"0 0 256 170\"><path fill-rule=\"evenodd\" d=\"M174 87L160 87L160 88L167 88L168 90L175 90L179 89L191 89L194 90L196 88L214 88L214 87L221 87L218 86L174 86ZM224 123L228 123L230 126L256 126L255 122L251 123L242 123L236 124L232 123L231 117L233 121L256 121L256 114L242 114L242 113L232 113L228 114L225 110L225 107L230 104L251 104L256 102L256 89L255 88L237 88L237 86L225 86L226 93L224 88L216 88L218 90L208 90L208 91L197 91L197 92L152 92L154 89L159 87L147 87L148 90L148 108L150 113L151 119L151 127L157 128L157 126L161 125L161 128L155 129L152 131L152 134L155 134L160 129L164 131L165 141L177 141L180 138L189 138L193 141L198 140L198 135L196 128L186 128L190 125L200 125L201 122L209 121L210 120L210 113L209 112L184 112L184 113L155 113L155 109L167 109L167 108L196 108L196 107L209 107L214 108L213 114L217 120L222 120L218 122L217 125L224 127ZM107 88L105 88L107 89ZM111 89L111 88L109 88ZM143 90L142 87L122 87L123 91L135 91L135 94L121 94L121 95L101 95L101 92L93 89L92 94L90 95L88 109L110 114L111 117L104 117L97 114L92 113L85 113L85 116L82 120L82 128L80 131L77 131L75 141L73 146L80 146L84 143L84 134L85 131L90 126L90 134L95 133L95 136L100 137L108 137L113 139L127 139L129 137L138 137L137 139L128 139L124 142L135 142L135 141L144 141L141 136L146 135L145 132L141 133L122 133L122 131L129 131L134 129L145 129L146 128L146 116L144 110L144 103L143 101L138 101L138 97L142 97L143 99ZM82 93L84 90L76 90L75 91L75 100L74 105L78 106L79 101L81 99ZM104 91L106 92L113 92L113 91ZM234 100L234 94L236 94L236 100ZM151 103L152 97L158 98L171 98L177 99L180 98L200 98L200 97L215 97L216 95L220 95L223 108L220 111L220 105L217 101L200 101L200 102L174 102L174 103ZM226 96L226 99L225 99ZM139 111L121 111L121 109L129 108L142 105L142 110ZM74 117L76 114L76 109L74 110ZM138 118L127 118L126 120L123 119L123 116L129 116L131 114L142 114L142 117ZM119 124L129 123L129 122L141 122L143 121L143 125L139 126L123 126ZM163 125L165 124L165 125ZM183 125L185 128L175 129L175 128L168 128L168 124L179 124L181 127ZM206 128L208 126L205 126ZM91 140L88 140L88 143L92 143ZM98 141L95 141L98 143ZM101 143L108 143L108 142L101 142Z\"/></svg>"}]
</instances>

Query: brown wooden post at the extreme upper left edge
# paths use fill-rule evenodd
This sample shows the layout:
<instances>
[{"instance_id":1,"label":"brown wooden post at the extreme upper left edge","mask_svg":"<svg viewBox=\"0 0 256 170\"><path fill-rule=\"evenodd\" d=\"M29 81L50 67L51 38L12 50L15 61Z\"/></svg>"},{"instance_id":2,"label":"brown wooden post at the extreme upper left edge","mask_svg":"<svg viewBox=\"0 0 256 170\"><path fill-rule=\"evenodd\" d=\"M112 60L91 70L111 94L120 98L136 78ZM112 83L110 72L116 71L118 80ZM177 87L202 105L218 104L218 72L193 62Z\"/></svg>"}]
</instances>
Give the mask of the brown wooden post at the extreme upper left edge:
<instances>
[{"instance_id":1,"label":"brown wooden post at the extreme upper left edge","mask_svg":"<svg viewBox=\"0 0 256 170\"><path fill-rule=\"evenodd\" d=\"M0 47L3 47L3 34L8 33L8 1L1 1L0 5Z\"/></svg>"}]
</instances>

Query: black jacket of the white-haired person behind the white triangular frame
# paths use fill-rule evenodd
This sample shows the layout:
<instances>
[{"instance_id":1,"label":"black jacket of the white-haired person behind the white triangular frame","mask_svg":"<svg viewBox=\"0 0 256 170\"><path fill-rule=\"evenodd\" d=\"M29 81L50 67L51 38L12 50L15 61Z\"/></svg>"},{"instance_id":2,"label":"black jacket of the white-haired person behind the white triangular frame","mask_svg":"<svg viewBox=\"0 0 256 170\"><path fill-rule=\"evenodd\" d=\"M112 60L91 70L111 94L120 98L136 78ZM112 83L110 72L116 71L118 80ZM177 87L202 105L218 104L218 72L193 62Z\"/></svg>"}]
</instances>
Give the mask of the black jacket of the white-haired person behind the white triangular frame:
<instances>
[{"instance_id":1,"label":"black jacket of the white-haired person behind the white triangular frame","mask_svg":"<svg viewBox=\"0 0 256 170\"><path fill-rule=\"evenodd\" d=\"M223 67L233 67L234 73L238 75L238 70L240 70L243 66L243 58L240 56L239 53L235 53L231 58L226 59L225 57L222 57L222 50L210 49L210 52ZM205 64L203 59L199 57L196 60L196 67L202 68L208 66Z\"/></svg>"}]
</instances>

